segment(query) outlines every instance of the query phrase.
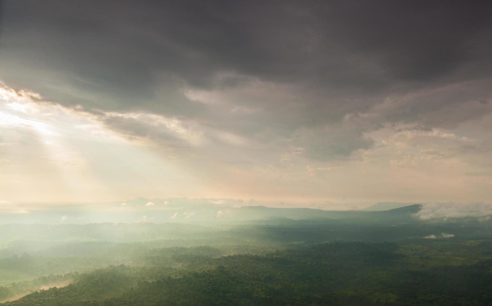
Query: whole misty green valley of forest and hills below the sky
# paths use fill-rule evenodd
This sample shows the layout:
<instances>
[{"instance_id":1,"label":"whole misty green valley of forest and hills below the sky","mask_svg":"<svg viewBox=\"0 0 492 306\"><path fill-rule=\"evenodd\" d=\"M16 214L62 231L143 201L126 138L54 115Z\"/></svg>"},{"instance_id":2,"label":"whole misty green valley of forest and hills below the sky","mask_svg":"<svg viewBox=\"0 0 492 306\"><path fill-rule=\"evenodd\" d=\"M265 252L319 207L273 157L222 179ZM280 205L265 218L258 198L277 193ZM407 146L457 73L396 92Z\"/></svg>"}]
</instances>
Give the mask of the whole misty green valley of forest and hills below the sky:
<instances>
[{"instance_id":1,"label":"whole misty green valley of forest and hills below the sky","mask_svg":"<svg viewBox=\"0 0 492 306\"><path fill-rule=\"evenodd\" d=\"M360 211L230 207L228 218L215 217L214 222L206 218L208 209L217 212L211 204L197 211L194 220L180 222L3 224L0 301L2 305L492 303L490 218L422 219L421 204L377 211L384 208L388 207L379 204ZM206 222L200 222L200 211ZM146 214L176 213L153 209Z\"/></svg>"}]
</instances>

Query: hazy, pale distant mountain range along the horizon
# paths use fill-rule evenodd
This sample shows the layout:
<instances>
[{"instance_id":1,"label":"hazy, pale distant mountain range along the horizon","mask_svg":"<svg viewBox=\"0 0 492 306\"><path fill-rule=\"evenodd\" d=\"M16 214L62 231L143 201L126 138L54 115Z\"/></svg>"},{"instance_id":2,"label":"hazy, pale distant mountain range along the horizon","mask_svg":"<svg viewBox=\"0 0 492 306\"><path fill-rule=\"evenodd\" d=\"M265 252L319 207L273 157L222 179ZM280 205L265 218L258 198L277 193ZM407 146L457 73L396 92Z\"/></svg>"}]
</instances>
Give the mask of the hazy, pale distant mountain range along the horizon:
<instances>
[{"instance_id":1,"label":"hazy, pale distant mountain range along the horizon","mask_svg":"<svg viewBox=\"0 0 492 306\"><path fill-rule=\"evenodd\" d=\"M30 210L25 214L0 214L0 224L85 224L100 222L199 222L214 223L256 223L286 222L288 220L340 219L367 222L414 222L414 214L422 205L411 203L377 203L365 210L326 211L310 208L272 208L265 206L239 206L226 199L197 199L186 202L181 199L137 198L124 203L96 207L52 207L44 210ZM410 204L410 205L408 205ZM396 208L394 208L396 207ZM393 209L391 209L393 208ZM281 221L283 220L283 221Z\"/></svg>"}]
</instances>

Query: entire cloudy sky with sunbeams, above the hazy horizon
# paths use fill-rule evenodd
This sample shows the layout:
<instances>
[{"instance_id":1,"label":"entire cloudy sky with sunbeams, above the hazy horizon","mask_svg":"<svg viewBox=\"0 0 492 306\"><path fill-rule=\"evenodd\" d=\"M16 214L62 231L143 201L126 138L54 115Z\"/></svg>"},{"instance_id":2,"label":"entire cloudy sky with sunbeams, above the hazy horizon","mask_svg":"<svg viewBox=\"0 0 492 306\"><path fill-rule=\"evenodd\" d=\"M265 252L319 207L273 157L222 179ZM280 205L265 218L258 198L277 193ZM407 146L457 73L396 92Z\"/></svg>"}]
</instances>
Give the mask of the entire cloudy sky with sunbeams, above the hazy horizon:
<instances>
[{"instance_id":1,"label":"entire cloudy sky with sunbeams, above the hazy horizon","mask_svg":"<svg viewBox=\"0 0 492 306\"><path fill-rule=\"evenodd\" d=\"M491 203L491 16L491 1L0 0L0 205Z\"/></svg>"}]
</instances>

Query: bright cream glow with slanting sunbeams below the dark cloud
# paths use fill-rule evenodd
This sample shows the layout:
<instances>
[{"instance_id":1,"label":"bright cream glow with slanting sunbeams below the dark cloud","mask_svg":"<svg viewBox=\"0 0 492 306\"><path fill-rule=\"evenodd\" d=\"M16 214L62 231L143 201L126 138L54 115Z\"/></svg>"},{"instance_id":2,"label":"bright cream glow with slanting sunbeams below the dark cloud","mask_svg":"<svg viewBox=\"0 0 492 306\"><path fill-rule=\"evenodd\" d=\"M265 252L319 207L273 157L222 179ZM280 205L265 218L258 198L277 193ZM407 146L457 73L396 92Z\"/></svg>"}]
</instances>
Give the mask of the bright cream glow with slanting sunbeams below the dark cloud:
<instances>
[{"instance_id":1,"label":"bright cream glow with slanting sunbeams below the dark cloud","mask_svg":"<svg viewBox=\"0 0 492 306\"><path fill-rule=\"evenodd\" d=\"M189 192L184 186L195 182L179 162L105 129L87 114L4 85L0 97L3 201L107 201L167 192L184 196ZM175 122L168 124L182 133Z\"/></svg>"}]
</instances>

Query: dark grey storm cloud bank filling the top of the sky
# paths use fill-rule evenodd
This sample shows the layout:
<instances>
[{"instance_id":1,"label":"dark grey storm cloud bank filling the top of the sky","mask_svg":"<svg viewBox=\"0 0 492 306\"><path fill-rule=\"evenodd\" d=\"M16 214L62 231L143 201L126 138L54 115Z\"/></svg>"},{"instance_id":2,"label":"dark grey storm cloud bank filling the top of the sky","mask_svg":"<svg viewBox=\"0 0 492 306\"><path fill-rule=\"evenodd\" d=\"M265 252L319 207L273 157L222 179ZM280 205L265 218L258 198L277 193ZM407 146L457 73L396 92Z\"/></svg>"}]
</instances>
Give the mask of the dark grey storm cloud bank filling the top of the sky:
<instances>
[{"instance_id":1,"label":"dark grey storm cloud bank filling the top of the sky","mask_svg":"<svg viewBox=\"0 0 492 306\"><path fill-rule=\"evenodd\" d=\"M490 111L483 102L466 116L461 111L471 100L490 99L488 83L479 83L395 98L373 121L340 123L388 96L489 78L491 1L4 4L0 78L63 105L154 113L263 142L283 137L321 159L369 148L364 132L383 122L429 129ZM254 82L272 84L271 92L254 96ZM229 91L221 95L229 104L192 100L184 94L190 89ZM443 110L452 122L440 117ZM103 121L150 135L132 120Z\"/></svg>"}]
</instances>

